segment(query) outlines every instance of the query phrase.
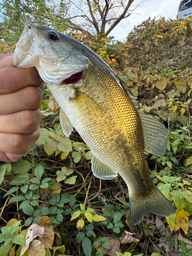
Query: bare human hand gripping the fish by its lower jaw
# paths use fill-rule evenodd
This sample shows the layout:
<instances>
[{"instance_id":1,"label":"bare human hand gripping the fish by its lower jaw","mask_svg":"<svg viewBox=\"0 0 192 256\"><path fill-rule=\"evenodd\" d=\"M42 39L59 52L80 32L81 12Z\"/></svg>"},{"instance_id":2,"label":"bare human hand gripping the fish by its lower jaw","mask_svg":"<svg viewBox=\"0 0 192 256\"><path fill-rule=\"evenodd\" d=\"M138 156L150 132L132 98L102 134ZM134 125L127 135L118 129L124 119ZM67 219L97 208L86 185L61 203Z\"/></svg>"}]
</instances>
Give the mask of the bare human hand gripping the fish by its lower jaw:
<instances>
[{"instance_id":1,"label":"bare human hand gripping the fish by its lower jaw","mask_svg":"<svg viewBox=\"0 0 192 256\"><path fill-rule=\"evenodd\" d=\"M27 154L40 135L42 80L35 68L12 63L12 54L0 54L0 161L5 162Z\"/></svg>"}]
</instances>

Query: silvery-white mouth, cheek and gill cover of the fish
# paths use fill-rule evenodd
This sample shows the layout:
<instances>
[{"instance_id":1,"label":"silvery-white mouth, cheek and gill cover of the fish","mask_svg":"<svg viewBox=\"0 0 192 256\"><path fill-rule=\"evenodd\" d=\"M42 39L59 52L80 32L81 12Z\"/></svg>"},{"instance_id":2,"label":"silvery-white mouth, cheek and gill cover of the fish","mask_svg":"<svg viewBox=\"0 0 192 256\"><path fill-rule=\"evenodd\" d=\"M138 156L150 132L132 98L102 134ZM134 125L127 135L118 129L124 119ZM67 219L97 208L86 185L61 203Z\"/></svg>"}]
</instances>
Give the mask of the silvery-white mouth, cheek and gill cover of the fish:
<instances>
[{"instance_id":1,"label":"silvery-white mouth, cheek and gill cover of the fish","mask_svg":"<svg viewBox=\"0 0 192 256\"><path fill-rule=\"evenodd\" d=\"M64 53L60 57L55 58L58 52L54 52L52 42L50 45L49 39L46 38L46 33L53 31L59 33L52 28L35 26L31 22L26 22L24 31L16 44L13 67L36 67L40 77L47 84L60 84L72 75L87 70L88 58L75 52L75 49L63 51ZM60 36L62 36L61 33ZM64 43L65 40L59 46L62 47L61 45ZM51 49L49 54L47 50L45 51L47 48ZM74 66L73 62L76 61L77 57L79 61Z\"/></svg>"}]
</instances>

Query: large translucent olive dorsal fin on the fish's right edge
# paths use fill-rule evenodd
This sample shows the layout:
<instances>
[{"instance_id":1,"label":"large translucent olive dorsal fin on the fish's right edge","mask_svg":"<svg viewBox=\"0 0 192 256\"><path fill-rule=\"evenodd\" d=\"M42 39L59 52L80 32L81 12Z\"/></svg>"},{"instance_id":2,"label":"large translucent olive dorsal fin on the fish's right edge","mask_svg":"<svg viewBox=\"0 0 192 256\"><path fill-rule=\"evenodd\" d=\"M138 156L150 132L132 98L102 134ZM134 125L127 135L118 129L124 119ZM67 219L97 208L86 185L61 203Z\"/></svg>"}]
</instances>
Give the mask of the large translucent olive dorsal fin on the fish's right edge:
<instances>
[{"instance_id":1,"label":"large translucent olive dorsal fin on the fish's right edge","mask_svg":"<svg viewBox=\"0 0 192 256\"><path fill-rule=\"evenodd\" d=\"M144 150L162 157L168 142L168 130L152 116L138 111L144 137Z\"/></svg>"}]
</instances>

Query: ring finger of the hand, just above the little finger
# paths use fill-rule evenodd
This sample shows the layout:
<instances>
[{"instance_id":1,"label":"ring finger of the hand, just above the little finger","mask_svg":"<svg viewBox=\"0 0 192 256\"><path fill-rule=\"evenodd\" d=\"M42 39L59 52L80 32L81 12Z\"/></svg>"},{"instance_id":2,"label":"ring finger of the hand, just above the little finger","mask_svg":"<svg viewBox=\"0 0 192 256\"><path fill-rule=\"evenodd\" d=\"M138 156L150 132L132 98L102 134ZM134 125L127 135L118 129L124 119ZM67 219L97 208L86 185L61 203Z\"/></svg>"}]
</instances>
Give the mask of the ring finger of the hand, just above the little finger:
<instances>
[{"instance_id":1,"label":"ring finger of the hand, just above the little finger","mask_svg":"<svg viewBox=\"0 0 192 256\"><path fill-rule=\"evenodd\" d=\"M40 124L40 110L23 110L13 114L0 115L1 133L34 133Z\"/></svg>"}]
</instances>

